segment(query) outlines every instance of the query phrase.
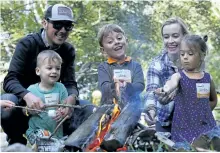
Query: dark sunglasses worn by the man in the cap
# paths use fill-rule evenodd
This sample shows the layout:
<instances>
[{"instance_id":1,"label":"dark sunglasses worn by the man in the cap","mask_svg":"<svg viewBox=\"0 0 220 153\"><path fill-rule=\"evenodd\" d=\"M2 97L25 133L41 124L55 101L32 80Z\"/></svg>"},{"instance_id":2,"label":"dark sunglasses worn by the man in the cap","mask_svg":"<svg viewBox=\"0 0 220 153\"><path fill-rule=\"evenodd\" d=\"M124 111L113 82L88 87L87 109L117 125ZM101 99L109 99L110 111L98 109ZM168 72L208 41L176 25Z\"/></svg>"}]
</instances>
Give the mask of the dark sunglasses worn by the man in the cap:
<instances>
[{"instance_id":1,"label":"dark sunglasses worn by the man in the cap","mask_svg":"<svg viewBox=\"0 0 220 153\"><path fill-rule=\"evenodd\" d=\"M71 31L74 27L71 21L51 21L49 19L47 21L53 24L53 28L56 30L61 30L64 27L66 31Z\"/></svg>"}]
</instances>

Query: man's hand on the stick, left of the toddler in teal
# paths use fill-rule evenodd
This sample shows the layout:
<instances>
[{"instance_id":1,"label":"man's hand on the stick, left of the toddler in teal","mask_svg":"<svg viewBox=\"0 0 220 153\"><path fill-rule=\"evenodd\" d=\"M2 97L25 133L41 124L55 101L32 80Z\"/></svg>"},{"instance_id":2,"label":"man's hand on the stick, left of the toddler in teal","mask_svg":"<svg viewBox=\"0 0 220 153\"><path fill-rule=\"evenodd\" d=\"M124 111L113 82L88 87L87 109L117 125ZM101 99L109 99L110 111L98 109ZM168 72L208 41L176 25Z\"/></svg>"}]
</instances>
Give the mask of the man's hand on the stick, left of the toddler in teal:
<instances>
[{"instance_id":1,"label":"man's hand on the stick, left of the toddler in teal","mask_svg":"<svg viewBox=\"0 0 220 153\"><path fill-rule=\"evenodd\" d=\"M41 110L44 107L44 103L41 101L41 99L30 92L27 93L23 99L25 100L27 107L29 108ZM36 114L38 112L31 111L30 113Z\"/></svg>"}]
</instances>

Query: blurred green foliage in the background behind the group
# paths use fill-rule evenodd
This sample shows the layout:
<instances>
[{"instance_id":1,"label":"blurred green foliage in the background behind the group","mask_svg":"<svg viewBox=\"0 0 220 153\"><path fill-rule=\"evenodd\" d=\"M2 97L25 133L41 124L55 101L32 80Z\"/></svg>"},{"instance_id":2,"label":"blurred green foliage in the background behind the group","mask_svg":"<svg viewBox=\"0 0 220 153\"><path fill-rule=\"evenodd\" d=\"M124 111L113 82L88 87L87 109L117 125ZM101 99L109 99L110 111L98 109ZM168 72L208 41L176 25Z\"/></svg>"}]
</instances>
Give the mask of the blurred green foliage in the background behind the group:
<instances>
[{"instance_id":1,"label":"blurred green foliage in the background behind the group","mask_svg":"<svg viewBox=\"0 0 220 153\"><path fill-rule=\"evenodd\" d=\"M99 51L97 32L106 23L119 24L127 33L127 54L139 61L146 76L149 62L160 53L160 27L172 16L181 17L192 33L209 36L207 71L220 90L220 2L218 1L1 1L1 77L7 71L16 43L38 32L47 5L63 3L72 8L77 24L68 41L77 49L76 70L80 92L90 99L97 89L97 66L105 58ZM1 78L1 81L3 79Z\"/></svg>"}]
</instances>

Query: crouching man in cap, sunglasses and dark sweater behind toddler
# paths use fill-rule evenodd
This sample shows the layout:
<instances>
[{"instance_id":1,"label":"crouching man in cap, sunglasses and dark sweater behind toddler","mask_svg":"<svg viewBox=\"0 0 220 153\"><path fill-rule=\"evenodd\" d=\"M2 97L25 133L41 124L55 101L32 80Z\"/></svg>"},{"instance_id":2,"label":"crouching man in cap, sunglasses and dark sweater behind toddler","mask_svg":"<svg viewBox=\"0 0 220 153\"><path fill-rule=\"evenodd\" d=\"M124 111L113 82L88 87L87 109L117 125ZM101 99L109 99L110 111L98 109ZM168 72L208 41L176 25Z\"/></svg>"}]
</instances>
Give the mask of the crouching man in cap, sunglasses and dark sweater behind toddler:
<instances>
[{"instance_id":1,"label":"crouching man in cap, sunglasses and dark sweater behind toddler","mask_svg":"<svg viewBox=\"0 0 220 153\"><path fill-rule=\"evenodd\" d=\"M75 81L75 49L71 44L65 42L74 27L74 22L71 8L62 4L48 7L42 20L43 28L40 32L29 34L16 45L3 84L3 89L7 94L2 95L1 99L11 100L16 105L27 106L32 109L42 109L44 107L41 99L30 93L26 88L31 84L40 82L39 76L35 73L37 55L43 50L50 49L57 52L63 59L58 81L61 81L68 91L68 97L64 100L64 103L70 105L88 103L77 100L79 92ZM17 98L14 98L14 96ZM72 109L66 108L63 116L76 114L76 111L73 113ZM87 113L77 113L85 117L86 114L92 112L91 107L87 107L83 111L87 111ZM7 113L7 115L1 116L1 124L8 135L9 144L16 142L26 144L23 134L28 128L29 117L25 116L22 110L18 108L13 108ZM37 112L30 113L35 114ZM68 124L65 127L64 133L66 131L66 134L70 134L73 131L73 128L69 129Z\"/></svg>"}]
</instances>

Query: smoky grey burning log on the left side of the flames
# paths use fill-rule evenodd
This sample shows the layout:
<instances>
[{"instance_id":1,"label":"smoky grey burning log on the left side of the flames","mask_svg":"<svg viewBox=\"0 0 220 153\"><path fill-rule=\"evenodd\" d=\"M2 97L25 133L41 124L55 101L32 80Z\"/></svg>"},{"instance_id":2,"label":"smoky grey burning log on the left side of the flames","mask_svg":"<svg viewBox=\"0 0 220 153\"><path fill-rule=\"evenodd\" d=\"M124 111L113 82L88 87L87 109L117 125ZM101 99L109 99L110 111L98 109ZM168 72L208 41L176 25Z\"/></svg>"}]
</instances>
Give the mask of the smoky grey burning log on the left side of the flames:
<instances>
[{"instance_id":1,"label":"smoky grey burning log on the left side of the flames","mask_svg":"<svg viewBox=\"0 0 220 153\"><path fill-rule=\"evenodd\" d=\"M88 145L95 139L99 130L99 121L104 114L112 112L114 105L103 105L97 108L86 121L84 121L64 142L67 148L85 151Z\"/></svg>"}]
</instances>

